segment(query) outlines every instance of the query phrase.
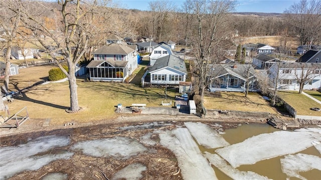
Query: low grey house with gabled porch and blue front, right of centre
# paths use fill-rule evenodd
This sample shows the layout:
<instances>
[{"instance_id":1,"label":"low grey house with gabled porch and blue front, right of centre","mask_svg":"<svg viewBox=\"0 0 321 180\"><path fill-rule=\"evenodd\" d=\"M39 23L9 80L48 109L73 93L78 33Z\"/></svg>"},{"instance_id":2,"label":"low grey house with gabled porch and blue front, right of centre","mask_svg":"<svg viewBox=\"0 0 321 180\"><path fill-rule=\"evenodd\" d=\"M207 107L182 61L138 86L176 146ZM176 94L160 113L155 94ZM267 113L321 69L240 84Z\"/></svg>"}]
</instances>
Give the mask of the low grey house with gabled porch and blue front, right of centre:
<instances>
[{"instance_id":1,"label":"low grey house with gabled porch and blue front, right of centre","mask_svg":"<svg viewBox=\"0 0 321 180\"><path fill-rule=\"evenodd\" d=\"M251 64L215 64L208 76L211 80L209 90L245 92L248 84L249 91L258 92L256 74Z\"/></svg>"}]
</instances>

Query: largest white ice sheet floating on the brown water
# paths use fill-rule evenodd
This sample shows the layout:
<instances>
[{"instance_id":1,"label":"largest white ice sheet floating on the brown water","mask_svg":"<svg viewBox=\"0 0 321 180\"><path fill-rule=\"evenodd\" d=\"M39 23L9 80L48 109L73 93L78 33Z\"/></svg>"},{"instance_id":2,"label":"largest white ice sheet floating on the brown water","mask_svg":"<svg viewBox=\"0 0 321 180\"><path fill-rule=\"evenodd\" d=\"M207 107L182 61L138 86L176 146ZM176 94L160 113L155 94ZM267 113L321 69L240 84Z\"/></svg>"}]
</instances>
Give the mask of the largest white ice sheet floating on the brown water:
<instances>
[{"instance_id":1,"label":"largest white ice sheet floating on the brown water","mask_svg":"<svg viewBox=\"0 0 321 180\"><path fill-rule=\"evenodd\" d=\"M217 149L216 152L233 167L253 164L263 159L292 154L312 146L321 134L308 131L276 131L259 134L243 142Z\"/></svg>"}]
</instances>

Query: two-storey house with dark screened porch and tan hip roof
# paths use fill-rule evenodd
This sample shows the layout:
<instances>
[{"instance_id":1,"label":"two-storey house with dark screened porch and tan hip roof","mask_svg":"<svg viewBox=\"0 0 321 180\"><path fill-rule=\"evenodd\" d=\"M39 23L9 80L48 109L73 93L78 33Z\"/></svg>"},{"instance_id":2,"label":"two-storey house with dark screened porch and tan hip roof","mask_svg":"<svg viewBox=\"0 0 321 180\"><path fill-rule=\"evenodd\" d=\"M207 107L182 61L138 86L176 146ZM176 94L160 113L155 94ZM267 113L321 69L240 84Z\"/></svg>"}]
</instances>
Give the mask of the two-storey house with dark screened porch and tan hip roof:
<instances>
[{"instance_id":1,"label":"two-storey house with dark screened porch and tan hip roof","mask_svg":"<svg viewBox=\"0 0 321 180\"><path fill-rule=\"evenodd\" d=\"M136 50L123 44L105 45L93 52L89 68L90 81L123 82L138 66Z\"/></svg>"}]
</instances>

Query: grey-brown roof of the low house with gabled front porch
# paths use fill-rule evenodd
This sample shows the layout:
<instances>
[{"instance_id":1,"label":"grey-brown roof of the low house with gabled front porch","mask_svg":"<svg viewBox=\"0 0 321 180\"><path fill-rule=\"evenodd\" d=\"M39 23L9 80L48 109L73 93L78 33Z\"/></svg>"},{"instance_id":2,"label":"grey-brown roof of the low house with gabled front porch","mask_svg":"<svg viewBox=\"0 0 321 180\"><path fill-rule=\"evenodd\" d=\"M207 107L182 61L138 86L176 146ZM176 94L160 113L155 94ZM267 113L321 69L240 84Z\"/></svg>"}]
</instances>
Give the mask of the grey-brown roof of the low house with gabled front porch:
<instances>
[{"instance_id":1,"label":"grey-brown roof of the low house with gabled front porch","mask_svg":"<svg viewBox=\"0 0 321 180\"><path fill-rule=\"evenodd\" d=\"M255 76L256 71L251 64L237 64L237 65L224 65L224 64L216 64L213 66L214 76L216 78L230 74L240 79L246 80L245 74L249 70L250 73Z\"/></svg>"}]
</instances>

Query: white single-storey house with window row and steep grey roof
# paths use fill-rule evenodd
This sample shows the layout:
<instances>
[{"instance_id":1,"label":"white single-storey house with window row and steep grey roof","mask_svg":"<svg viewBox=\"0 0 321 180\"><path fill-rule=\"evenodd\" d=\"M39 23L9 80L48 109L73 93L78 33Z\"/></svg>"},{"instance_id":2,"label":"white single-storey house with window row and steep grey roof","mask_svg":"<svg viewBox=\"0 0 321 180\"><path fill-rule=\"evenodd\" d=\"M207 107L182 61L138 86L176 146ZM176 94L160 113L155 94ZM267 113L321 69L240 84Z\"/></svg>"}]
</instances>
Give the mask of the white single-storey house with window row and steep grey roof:
<instances>
[{"instance_id":1,"label":"white single-storey house with window row and steep grey roof","mask_svg":"<svg viewBox=\"0 0 321 180\"><path fill-rule=\"evenodd\" d=\"M157 59L148 72L150 84L179 85L187 76L184 60L174 55Z\"/></svg>"}]
</instances>

